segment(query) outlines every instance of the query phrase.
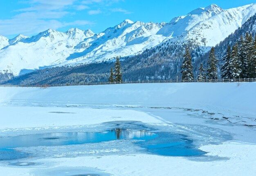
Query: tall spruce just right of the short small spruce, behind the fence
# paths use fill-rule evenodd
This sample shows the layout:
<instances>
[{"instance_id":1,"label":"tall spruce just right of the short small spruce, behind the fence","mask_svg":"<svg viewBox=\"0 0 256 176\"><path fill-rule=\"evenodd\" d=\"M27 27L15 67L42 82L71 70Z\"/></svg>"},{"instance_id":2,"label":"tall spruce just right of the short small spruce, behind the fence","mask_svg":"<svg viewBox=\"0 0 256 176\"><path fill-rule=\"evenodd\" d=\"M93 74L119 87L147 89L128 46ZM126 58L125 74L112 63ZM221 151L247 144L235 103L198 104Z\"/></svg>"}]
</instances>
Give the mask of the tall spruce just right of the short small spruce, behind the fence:
<instances>
[{"instance_id":1,"label":"tall spruce just right of the short small spruce, behind the fence","mask_svg":"<svg viewBox=\"0 0 256 176\"><path fill-rule=\"evenodd\" d=\"M215 56L215 49L214 47L211 48L211 51L209 53L209 59L207 62L207 78L217 80L218 79L218 72L217 72L217 62L218 59L216 59Z\"/></svg>"}]
</instances>

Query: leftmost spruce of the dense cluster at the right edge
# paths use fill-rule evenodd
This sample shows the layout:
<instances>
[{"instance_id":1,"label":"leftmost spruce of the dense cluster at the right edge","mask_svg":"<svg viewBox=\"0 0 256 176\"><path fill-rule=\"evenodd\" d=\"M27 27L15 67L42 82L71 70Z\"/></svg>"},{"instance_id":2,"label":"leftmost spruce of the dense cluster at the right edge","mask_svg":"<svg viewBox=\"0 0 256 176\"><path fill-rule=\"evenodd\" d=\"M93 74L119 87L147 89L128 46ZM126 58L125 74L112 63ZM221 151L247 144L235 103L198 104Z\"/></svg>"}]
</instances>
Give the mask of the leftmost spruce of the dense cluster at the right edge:
<instances>
[{"instance_id":1,"label":"leftmost spruce of the dense cluster at the right edge","mask_svg":"<svg viewBox=\"0 0 256 176\"><path fill-rule=\"evenodd\" d=\"M222 79L230 79L232 78L231 71L231 47L230 45L227 47L227 54L224 56L223 60L225 61L224 65L221 67L221 78Z\"/></svg>"}]
</instances>

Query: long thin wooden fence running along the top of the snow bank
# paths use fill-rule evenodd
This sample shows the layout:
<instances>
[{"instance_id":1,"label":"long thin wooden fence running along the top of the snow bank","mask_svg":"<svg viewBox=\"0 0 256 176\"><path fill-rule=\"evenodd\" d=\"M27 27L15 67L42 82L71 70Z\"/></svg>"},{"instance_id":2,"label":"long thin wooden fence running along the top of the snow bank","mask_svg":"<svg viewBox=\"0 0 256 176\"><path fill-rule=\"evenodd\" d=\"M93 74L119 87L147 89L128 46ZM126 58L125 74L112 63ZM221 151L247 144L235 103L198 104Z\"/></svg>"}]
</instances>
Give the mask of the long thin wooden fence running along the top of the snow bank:
<instances>
[{"instance_id":1,"label":"long thin wooden fence running along the top of the snow bank","mask_svg":"<svg viewBox=\"0 0 256 176\"><path fill-rule=\"evenodd\" d=\"M62 87L79 85L113 85L113 84L138 84L138 83L177 83L177 82L256 82L256 78L245 79L218 79L218 80L157 80L157 81L125 81L125 82L85 82L83 84L55 84L55 85L0 85L0 87Z\"/></svg>"}]
</instances>

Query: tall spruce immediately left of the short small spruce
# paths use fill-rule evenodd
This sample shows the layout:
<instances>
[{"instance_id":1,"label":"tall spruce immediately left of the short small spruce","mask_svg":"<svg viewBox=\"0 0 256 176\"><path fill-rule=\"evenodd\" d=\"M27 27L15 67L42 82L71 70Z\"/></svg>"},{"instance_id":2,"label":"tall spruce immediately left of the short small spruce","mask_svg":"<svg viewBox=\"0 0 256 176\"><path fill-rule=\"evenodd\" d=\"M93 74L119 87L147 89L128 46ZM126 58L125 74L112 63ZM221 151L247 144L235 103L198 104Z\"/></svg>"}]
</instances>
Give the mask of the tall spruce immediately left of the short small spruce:
<instances>
[{"instance_id":1,"label":"tall spruce immediately left of the short small spruce","mask_svg":"<svg viewBox=\"0 0 256 176\"><path fill-rule=\"evenodd\" d=\"M193 65L188 48L186 48L183 59L184 61L182 62L181 66L182 80L193 80Z\"/></svg>"}]
</instances>

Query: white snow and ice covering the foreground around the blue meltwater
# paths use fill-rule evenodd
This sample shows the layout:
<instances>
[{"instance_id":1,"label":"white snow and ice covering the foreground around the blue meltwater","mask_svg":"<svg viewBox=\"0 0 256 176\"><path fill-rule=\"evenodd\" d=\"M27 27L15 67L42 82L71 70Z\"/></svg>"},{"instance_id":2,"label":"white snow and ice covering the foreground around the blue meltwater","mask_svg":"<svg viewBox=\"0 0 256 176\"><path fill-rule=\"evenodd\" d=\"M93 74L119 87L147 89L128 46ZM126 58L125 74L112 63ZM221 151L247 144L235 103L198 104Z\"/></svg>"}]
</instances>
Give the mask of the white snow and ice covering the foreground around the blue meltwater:
<instances>
[{"instance_id":1,"label":"white snow and ice covering the foreground around the blue meltwater","mask_svg":"<svg viewBox=\"0 0 256 176\"><path fill-rule=\"evenodd\" d=\"M22 147L18 150L34 156L17 165L1 161L1 174L71 176L89 170L114 176L249 176L256 172L256 130L246 126L256 125L255 89L256 82L0 87L0 137L98 131L111 122L134 120L187 135L207 152L160 156L129 140Z\"/></svg>"}]
</instances>

